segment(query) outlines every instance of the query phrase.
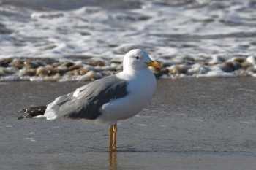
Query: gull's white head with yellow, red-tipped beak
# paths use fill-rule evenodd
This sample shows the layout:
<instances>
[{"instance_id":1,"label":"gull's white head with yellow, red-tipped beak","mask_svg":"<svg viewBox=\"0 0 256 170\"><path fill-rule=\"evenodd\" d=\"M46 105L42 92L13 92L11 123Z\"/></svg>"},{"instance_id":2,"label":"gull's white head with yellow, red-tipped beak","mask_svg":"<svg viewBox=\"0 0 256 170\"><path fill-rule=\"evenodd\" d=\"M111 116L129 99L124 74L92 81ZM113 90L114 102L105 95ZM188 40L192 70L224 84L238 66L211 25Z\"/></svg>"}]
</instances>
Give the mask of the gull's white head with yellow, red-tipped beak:
<instances>
[{"instance_id":1,"label":"gull's white head with yellow, red-tipped beak","mask_svg":"<svg viewBox=\"0 0 256 170\"><path fill-rule=\"evenodd\" d=\"M140 49L130 50L124 55L124 71L136 71L147 69L148 66L154 66L156 69L160 69L161 66L157 61L152 61L148 54Z\"/></svg>"}]
</instances>

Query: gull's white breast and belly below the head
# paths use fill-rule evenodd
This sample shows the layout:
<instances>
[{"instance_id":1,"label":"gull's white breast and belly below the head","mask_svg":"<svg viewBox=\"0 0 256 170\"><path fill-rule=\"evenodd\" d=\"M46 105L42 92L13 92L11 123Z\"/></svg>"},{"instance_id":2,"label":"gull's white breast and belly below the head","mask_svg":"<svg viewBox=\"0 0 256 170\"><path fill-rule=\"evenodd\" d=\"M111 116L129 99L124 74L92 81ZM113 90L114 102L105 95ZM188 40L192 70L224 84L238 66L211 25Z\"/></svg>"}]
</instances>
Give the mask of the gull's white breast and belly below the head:
<instances>
[{"instance_id":1,"label":"gull's white breast and belly below the head","mask_svg":"<svg viewBox=\"0 0 256 170\"><path fill-rule=\"evenodd\" d=\"M102 115L97 118L99 122L116 122L132 117L140 112L150 100L156 88L156 79L148 69L135 75L126 75L121 72L118 78L128 81L128 95L104 104L101 107Z\"/></svg>"}]
</instances>

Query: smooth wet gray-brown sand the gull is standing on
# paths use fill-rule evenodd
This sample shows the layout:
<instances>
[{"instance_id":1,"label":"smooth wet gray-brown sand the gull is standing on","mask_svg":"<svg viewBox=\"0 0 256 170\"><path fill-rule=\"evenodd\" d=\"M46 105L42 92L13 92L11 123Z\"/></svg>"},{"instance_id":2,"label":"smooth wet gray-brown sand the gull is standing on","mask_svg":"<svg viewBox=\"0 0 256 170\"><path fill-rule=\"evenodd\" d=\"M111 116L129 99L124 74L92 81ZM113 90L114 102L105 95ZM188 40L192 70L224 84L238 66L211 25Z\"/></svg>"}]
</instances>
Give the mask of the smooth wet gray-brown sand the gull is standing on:
<instances>
[{"instance_id":1,"label":"smooth wet gray-brown sand the gull is standing on","mask_svg":"<svg viewBox=\"0 0 256 170\"><path fill-rule=\"evenodd\" d=\"M0 169L255 169L256 79L158 80L146 109L108 128L81 120L16 120L85 82L0 82Z\"/></svg>"}]
</instances>

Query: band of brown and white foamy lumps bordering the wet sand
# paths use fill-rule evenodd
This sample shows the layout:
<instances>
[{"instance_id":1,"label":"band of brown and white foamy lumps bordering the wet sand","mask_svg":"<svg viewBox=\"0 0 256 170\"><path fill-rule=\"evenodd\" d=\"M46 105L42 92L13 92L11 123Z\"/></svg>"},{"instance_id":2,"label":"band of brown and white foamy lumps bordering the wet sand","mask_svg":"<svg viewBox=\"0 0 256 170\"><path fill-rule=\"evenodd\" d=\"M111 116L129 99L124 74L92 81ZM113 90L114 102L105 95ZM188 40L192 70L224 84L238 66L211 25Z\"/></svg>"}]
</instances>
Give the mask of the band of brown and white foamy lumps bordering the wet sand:
<instances>
[{"instance_id":1,"label":"band of brown and white foamy lumps bordering the wet sand","mask_svg":"<svg viewBox=\"0 0 256 170\"><path fill-rule=\"evenodd\" d=\"M256 58L215 58L211 61L159 61L162 69L149 68L157 78L256 77ZM102 58L4 58L0 60L3 81L87 81L121 72L122 61Z\"/></svg>"}]
</instances>

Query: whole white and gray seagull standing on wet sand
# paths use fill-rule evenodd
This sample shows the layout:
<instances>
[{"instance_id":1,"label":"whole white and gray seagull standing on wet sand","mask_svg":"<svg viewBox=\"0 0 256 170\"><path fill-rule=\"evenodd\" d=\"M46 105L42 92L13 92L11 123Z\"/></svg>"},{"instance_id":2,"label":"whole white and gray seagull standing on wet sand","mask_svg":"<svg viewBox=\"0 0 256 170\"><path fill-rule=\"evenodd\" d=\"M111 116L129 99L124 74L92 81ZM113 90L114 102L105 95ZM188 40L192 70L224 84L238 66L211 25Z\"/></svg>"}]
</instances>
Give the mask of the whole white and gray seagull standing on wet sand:
<instances>
[{"instance_id":1,"label":"whole white and gray seagull standing on wet sand","mask_svg":"<svg viewBox=\"0 0 256 170\"><path fill-rule=\"evenodd\" d=\"M122 72L83 85L45 106L21 109L26 116L18 119L67 117L105 123L110 127L108 149L116 150L117 121L137 115L154 94L157 82L148 66L161 68L145 51L130 50L124 55Z\"/></svg>"}]
</instances>

